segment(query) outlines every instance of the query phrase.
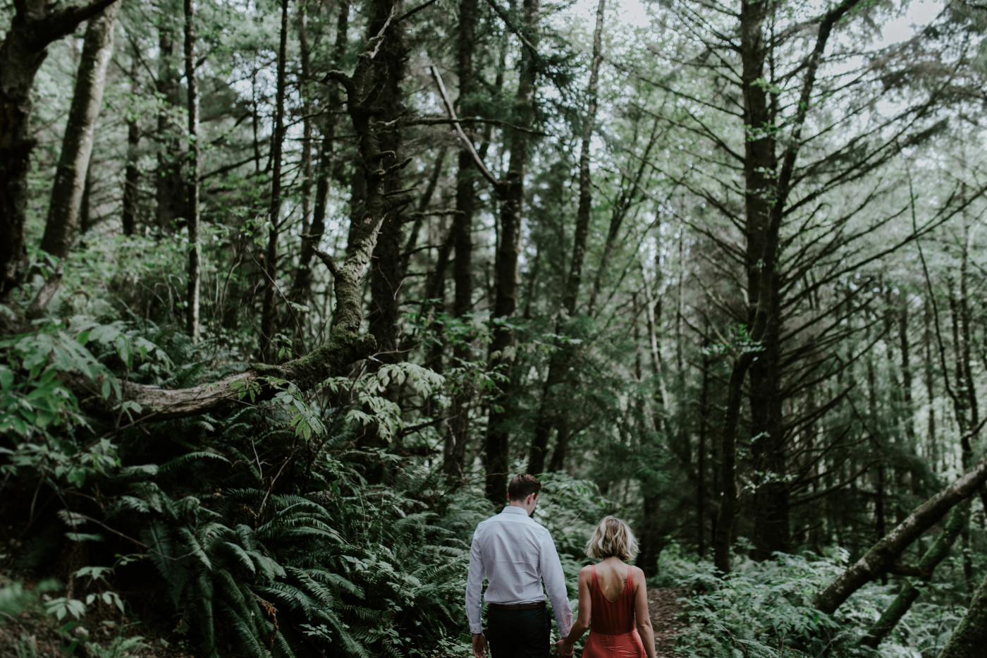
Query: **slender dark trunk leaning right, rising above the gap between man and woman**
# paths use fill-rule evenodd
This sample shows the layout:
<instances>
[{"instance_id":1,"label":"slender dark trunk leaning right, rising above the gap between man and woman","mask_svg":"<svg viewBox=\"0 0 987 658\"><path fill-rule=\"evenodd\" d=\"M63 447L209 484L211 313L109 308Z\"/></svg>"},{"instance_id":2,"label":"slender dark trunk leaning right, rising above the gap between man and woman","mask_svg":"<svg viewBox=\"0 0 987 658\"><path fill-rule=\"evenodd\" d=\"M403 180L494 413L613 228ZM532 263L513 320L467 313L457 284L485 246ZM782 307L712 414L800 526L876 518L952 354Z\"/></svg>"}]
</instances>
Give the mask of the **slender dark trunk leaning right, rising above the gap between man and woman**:
<instances>
[{"instance_id":1,"label":"slender dark trunk leaning right, rising above the gap between man and woman","mask_svg":"<svg viewBox=\"0 0 987 658\"><path fill-rule=\"evenodd\" d=\"M582 263L586 254L586 238L589 235L589 219L592 212L592 187L589 178L589 144L593 137L596 123L596 105L598 84L600 78L600 62L603 60L603 16L606 0L599 0L596 7L596 27L593 30L593 58L589 70L589 86L586 96L589 107L586 110L585 123L582 126L582 144L579 149L579 206L575 213L575 231L572 235L572 259L569 263L569 277L566 279L566 289L563 292L562 307L564 314L556 319L555 333L561 334L564 325L575 313L575 301L579 295L582 283ZM567 378L567 372L572 362L571 346L566 343L557 345L549 361L549 372L545 380L545 388L539 405L534 436L531 440L531 452L528 457L528 472L540 473L545 469L545 454L548 451L549 438L555 426L556 418L561 412L559 400L560 384ZM559 452L556 445L556 452ZM565 463L565 452L560 452L561 458L557 463Z\"/></svg>"}]
</instances>

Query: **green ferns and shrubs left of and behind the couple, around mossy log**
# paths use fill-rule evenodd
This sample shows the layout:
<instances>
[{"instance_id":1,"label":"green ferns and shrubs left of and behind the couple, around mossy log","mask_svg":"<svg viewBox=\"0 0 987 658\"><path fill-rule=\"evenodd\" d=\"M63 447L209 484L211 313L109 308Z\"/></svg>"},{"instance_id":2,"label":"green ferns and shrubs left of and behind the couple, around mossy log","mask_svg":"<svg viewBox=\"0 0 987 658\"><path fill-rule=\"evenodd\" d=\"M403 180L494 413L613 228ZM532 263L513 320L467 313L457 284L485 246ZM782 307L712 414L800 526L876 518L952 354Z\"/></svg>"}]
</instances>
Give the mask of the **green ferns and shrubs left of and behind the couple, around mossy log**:
<instances>
[{"instance_id":1,"label":"green ferns and shrubs left of and behind the couple, around mossy log","mask_svg":"<svg viewBox=\"0 0 987 658\"><path fill-rule=\"evenodd\" d=\"M59 622L112 609L179 635L197 658L469 654L470 540L498 509L482 482L450 483L420 456L441 441L428 414L459 379L403 363L307 392L268 380L272 400L245 389L232 410L155 422L120 402L121 381L188 387L243 360L235 343L118 317L39 322L0 343L0 510L20 520L3 526L17 547L3 571L56 576L44 608ZM79 377L89 398L68 383ZM407 452L357 450L368 428ZM367 464L383 466L381 484L364 480ZM539 521L574 599L608 504L563 474L544 483ZM66 650L103 655L87 647Z\"/></svg>"}]
</instances>

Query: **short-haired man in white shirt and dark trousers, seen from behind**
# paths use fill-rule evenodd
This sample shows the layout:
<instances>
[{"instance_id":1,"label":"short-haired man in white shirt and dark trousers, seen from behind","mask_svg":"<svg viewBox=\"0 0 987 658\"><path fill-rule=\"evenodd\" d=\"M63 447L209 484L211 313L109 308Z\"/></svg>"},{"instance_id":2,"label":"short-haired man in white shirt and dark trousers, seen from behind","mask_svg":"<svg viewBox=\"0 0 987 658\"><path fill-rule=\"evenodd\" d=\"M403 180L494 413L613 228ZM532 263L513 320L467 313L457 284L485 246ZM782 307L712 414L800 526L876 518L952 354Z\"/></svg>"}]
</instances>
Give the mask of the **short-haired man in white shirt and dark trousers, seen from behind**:
<instances>
[{"instance_id":1,"label":"short-haired man in white shirt and dark trousers, seen from behind","mask_svg":"<svg viewBox=\"0 0 987 658\"><path fill-rule=\"evenodd\" d=\"M488 641L493 658L549 656L552 622L545 592L552 601L559 632L563 637L569 635L572 611L559 553L548 530L531 519L541 489L538 478L521 473L507 486L509 505L477 526L473 534L466 616L476 658L486 658ZM489 583L484 595L487 635L480 620L484 574Z\"/></svg>"}]
</instances>

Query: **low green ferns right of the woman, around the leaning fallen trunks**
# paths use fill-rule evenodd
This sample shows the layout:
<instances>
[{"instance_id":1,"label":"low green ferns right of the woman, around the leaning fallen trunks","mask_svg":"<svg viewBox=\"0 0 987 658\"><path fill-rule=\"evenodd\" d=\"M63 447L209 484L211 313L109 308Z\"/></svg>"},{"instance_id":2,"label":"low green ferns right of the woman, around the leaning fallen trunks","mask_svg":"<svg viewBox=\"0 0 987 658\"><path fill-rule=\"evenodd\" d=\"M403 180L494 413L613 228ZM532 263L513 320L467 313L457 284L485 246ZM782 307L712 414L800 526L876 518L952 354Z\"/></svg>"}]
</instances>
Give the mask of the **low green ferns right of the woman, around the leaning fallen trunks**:
<instances>
[{"instance_id":1,"label":"low green ferns right of the woman, around the leaning fallen trunks","mask_svg":"<svg viewBox=\"0 0 987 658\"><path fill-rule=\"evenodd\" d=\"M871 583L832 616L812 599L847 566L847 555L776 555L776 560L738 560L726 578L712 563L698 565L670 551L657 582L691 588L689 620L676 650L696 658L933 658L938 656L962 610L916 603L877 649L861 644L868 628L894 599L898 586ZM697 570L698 569L698 570ZM935 589L935 588L930 588Z\"/></svg>"}]
</instances>

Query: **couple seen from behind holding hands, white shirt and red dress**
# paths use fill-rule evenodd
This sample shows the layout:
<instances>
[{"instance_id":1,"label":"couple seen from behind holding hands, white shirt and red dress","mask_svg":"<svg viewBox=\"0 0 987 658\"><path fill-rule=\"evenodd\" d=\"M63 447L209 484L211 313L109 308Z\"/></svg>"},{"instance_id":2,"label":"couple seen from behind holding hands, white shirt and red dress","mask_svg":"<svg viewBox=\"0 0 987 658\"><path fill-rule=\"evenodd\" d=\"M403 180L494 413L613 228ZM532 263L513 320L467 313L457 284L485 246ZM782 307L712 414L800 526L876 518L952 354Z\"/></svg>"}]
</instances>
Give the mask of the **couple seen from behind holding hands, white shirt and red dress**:
<instances>
[{"instance_id":1,"label":"couple seen from behind holding hands, white shirt and red dress","mask_svg":"<svg viewBox=\"0 0 987 658\"><path fill-rule=\"evenodd\" d=\"M522 473L512 479L509 505L477 526L473 535L466 581L473 655L487 658L490 650L492 658L546 658L551 641L547 592L563 635L555 646L558 655L571 655L576 640L589 629L583 658L654 658L645 573L625 564L638 549L631 529L607 517L586 543L586 554L599 561L579 571L579 615L572 623L555 542L531 519L541 488L534 475ZM485 574L486 632L480 619Z\"/></svg>"}]
</instances>

